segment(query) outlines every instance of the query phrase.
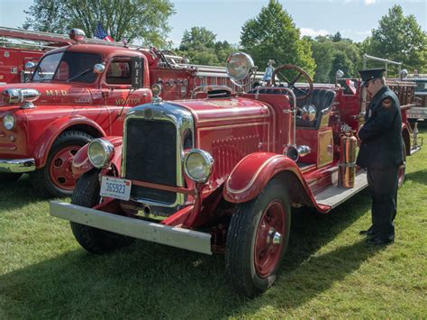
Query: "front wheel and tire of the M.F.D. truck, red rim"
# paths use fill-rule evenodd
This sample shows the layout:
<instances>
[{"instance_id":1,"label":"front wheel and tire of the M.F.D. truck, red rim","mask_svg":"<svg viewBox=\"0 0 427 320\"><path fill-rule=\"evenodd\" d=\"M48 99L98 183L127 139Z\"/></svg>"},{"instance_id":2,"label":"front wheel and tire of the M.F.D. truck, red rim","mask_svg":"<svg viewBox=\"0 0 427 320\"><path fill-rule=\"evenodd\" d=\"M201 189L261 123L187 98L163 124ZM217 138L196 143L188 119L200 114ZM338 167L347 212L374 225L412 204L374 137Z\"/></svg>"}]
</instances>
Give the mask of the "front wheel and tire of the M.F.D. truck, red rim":
<instances>
[{"instance_id":1,"label":"front wheel and tire of the M.F.D. truck, red rim","mask_svg":"<svg viewBox=\"0 0 427 320\"><path fill-rule=\"evenodd\" d=\"M32 186L42 197L70 197L76 186L71 164L77 151L92 140L78 131L61 133L50 148L46 165L30 174Z\"/></svg>"}]
</instances>

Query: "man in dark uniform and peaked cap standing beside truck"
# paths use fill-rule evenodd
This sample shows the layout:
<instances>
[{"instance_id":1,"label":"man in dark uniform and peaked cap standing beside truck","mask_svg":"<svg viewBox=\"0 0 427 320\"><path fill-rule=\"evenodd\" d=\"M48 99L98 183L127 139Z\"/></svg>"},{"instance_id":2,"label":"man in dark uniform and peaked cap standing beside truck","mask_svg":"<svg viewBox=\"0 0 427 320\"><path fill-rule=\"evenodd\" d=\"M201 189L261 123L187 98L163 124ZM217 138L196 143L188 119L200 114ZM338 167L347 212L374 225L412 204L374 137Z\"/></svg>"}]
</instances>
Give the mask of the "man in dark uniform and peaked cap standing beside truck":
<instances>
[{"instance_id":1,"label":"man in dark uniform and peaked cap standing beside truck","mask_svg":"<svg viewBox=\"0 0 427 320\"><path fill-rule=\"evenodd\" d=\"M397 175L404 164L402 115L395 93L386 86L385 69L359 71L362 86L372 98L359 130L360 149L357 164L368 169L368 189L372 197L372 225L360 234L369 244L387 244L395 240Z\"/></svg>"}]
</instances>

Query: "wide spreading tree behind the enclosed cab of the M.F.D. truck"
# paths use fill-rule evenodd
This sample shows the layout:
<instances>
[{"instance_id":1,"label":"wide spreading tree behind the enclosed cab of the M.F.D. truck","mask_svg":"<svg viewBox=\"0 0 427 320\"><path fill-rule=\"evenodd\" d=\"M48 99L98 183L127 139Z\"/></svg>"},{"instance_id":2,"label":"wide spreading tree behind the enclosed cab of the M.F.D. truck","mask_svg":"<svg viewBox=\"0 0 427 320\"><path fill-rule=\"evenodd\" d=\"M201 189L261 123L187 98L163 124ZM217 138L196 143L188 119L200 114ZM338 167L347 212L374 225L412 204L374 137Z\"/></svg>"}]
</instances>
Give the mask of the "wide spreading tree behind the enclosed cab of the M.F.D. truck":
<instances>
[{"instance_id":1,"label":"wide spreading tree behind the enclosed cab of the M.F.D. truck","mask_svg":"<svg viewBox=\"0 0 427 320\"><path fill-rule=\"evenodd\" d=\"M116 41L165 46L174 13L169 0L34 0L23 28L60 33L80 28L93 37L100 22Z\"/></svg>"}]
</instances>

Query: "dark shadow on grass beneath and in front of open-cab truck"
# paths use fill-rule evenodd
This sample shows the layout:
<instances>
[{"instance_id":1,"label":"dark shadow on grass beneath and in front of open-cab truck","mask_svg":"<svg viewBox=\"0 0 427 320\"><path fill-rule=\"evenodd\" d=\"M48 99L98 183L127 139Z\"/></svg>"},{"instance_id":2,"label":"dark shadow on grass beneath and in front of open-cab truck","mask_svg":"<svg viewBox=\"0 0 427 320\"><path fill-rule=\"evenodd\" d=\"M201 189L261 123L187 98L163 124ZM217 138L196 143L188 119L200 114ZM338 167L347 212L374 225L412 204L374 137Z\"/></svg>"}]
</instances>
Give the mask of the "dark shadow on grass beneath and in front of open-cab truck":
<instances>
[{"instance_id":1,"label":"dark shadow on grass beneath and in front of open-cab truck","mask_svg":"<svg viewBox=\"0 0 427 320\"><path fill-rule=\"evenodd\" d=\"M241 299L232 292L225 278L223 256L205 256L139 241L104 256L82 249L68 251L0 276L0 294L4 296L0 297L0 309L6 318L29 314L218 318L258 309L264 303L271 305L271 297L282 308L299 306L375 254L375 250L357 242L313 255L369 207L370 199L362 192L328 216L296 212L277 285L255 300ZM71 231L66 236L71 237ZM49 252L50 247L51 243L41 243L38 250Z\"/></svg>"}]
</instances>

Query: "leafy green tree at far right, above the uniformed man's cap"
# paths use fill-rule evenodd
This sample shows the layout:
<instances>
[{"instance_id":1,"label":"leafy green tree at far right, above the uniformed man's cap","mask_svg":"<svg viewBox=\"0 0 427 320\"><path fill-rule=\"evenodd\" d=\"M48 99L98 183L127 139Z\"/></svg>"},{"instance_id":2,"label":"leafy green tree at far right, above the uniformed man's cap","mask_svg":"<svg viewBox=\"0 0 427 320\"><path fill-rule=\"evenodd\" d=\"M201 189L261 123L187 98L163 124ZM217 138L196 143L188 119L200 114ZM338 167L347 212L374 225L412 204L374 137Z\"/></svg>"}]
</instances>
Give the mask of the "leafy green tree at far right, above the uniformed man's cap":
<instances>
[{"instance_id":1,"label":"leafy green tree at far right, above the uniformed man's cap","mask_svg":"<svg viewBox=\"0 0 427 320\"><path fill-rule=\"evenodd\" d=\"M400 5L379 20L363 47L369 55L403 62L406 69L427 70L427 32L413 14L404 16Z\"/></svg>"}]
</instances>

